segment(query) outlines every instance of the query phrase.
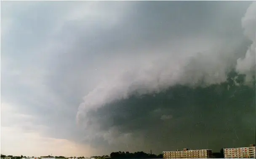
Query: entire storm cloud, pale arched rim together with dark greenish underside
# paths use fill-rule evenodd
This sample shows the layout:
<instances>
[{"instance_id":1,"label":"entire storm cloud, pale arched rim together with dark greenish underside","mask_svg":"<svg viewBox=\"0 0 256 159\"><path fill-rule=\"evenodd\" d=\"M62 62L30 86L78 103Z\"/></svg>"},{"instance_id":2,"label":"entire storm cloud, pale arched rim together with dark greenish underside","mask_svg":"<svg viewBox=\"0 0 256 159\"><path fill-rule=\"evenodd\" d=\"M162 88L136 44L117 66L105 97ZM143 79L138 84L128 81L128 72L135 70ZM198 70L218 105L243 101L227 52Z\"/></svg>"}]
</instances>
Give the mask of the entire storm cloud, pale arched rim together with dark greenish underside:
<instances>
[{"instance_id":1,"label":"entire storm cloud, pale arched rim together with dark greenish underside","mask_svg":"<svg viewBox=\"0 0 256 159\"><path fill-rule=\"evenodd\" d=\"M251 15L255 14L248 13L252 12L252 8L256 9L253 5L248 8L242 21L245 34L249 35L255 33L255 27L250 26L254 25L255 17ZM247 26L245 26L245 21L248 23ZM186 22L189 26L189 22ZM185 27L186 24L184 24ZM254 30L248 31L248 28ZM198 38L193 41L189 34L185 39L182 39L182 36L176 37L177 45L175 42L169 43L168 49L157 51L147 48L145 49L147 51L142 50L140 55L136 55L135 59L131 54L112 60L112 63L118 66L113 76L104 78L102 83L84 97L84 102L78 108L77 121L82 127L85 126L86 132L88 130L90 134L88 137L97 134L110 145L115 138L124 138L124 141L119 141L119 143L123 144L123 149L125 149L129 141L132 144L130 147L134 147L136 143L132 141L139 136L138 140L144 143L141 149L149 150L154 147L157 152L163 150L164 147L168 150L168 146L171 149L171 145L180 145L179 148L182 148L184 144L195 149L198 145L201 146L200 148L205 146L217 149L223 142L235 146L238 137L235 136L233 141L232 137L225 135L225 132L231 129L229 133L237 134L238 128L229 123L228 125L221 123L236 119L237 123L241 122L239 125L247 125L248 123L245 124L240 120L248 116L248 109L254 113L255 92L253 88L233 86L237 85L238 74L229 81L227 78L229 78L229 73L232 74L234 71L232 68L236 67L238 73L245 75L240 76L240 80L245 78L240 84L251 82L254 85L255 80L252 78L255 77L255 50L248 50L246 55L245 49L239 50L241 51L239 55L245 55L245 58L242 60L243 57L240 57L236 65L237 58L234 57L240 48L236 48L235 44L243 42L243 39L237 37L235 41L229 39L231 38L229 36L224 39L223 37L201 36L202 34L203 32L199 33L200 37L192 35L192 38ZM251 48L253 46L254 42ZM250 63L243 62L245 60L250 60ZM247 63L249 66L242 66L241 63ZM176 85L181 86L176 87ZM230 90L230 86L233 91ZM244 92L240 92L241 89L244 89ZM234 92L241 94L235 96ZM159 96L162 97L159 98ZM240 120L237 119L235 110L243 109L243 106L242 103L234 102L239 96L245 96L243 102L248 102L243 104L246 109L245 112L240 112ZM230 112L228 111L231 109L229 105L232 105ZM154 114L154 109L160 112ZM253 114L249 116L249 121L251 121L249 124L253 127L255 124ZM162 121L161 119L170 120ZM243 130L246 129L244 126ZM249 135L251 142L254 142L255 129L252 128L249 132L251 132ZM105 137L105 134L108 136ZM112 138L109 138L109 134L113 134ZM218 139L216 138L218 136L223 137ZM225 141L223 141L224 138ZM120 148L120 145L118 147Z\"/></svg>"}]
</instances>

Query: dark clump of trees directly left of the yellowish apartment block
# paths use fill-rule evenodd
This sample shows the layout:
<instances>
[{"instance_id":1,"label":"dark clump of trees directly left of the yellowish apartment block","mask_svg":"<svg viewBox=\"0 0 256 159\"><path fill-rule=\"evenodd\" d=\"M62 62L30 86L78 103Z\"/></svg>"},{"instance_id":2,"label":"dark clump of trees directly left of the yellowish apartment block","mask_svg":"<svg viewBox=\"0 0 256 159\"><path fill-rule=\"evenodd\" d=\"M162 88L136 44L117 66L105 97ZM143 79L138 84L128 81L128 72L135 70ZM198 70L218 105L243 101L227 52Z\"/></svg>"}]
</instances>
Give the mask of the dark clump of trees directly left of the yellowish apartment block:
<instances>
[{"instance_id":1,"label":"dark clump of trees directly left of the yellowish apartment block","mask_svg":"<svg viewBox=\"0 0 256 159\"><path fill-rule=\"evenodd\" d=\"M155 155L155 154L147 154L143 151L141 152L134 152L134 153L129 153L129 152L112 152L110 154L110 157L112 159L162 159L163 154Z\"/></svg>"}]
</instances>

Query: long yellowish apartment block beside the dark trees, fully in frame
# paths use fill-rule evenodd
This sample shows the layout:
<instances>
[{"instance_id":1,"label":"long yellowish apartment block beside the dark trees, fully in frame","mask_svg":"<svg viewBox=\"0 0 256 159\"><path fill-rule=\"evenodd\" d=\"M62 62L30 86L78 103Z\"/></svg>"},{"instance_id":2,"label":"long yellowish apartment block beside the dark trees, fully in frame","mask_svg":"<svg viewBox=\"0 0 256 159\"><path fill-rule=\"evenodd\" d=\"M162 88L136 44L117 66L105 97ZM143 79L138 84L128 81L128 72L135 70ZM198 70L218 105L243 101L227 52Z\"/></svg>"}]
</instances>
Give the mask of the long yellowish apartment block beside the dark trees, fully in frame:
<instances>
[{"instance_id":1,"label":"long yellowish apartment block beside the dark trees, fully in frame","mask_svg":"<svg viewBox=\"0 0 256 159\"><path fill-rule=\"evenodd\" d=\"M190 150L183 149L176 151L164 151L164 159L198 159L198 158L212 158L212 150Z\"/></svg>"}]
</instances>

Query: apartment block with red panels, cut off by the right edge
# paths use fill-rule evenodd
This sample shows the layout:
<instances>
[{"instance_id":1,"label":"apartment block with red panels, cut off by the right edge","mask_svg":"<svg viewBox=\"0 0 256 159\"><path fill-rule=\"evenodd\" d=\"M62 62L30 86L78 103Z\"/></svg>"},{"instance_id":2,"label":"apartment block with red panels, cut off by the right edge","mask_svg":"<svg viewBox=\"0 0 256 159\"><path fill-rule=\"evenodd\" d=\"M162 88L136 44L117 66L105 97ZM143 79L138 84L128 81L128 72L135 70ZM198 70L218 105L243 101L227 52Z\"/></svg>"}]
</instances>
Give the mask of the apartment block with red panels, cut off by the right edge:
<instances>
[{"instance_id":1,"label":"apartment block with red panels, cut off by the right edge","mask_svg":"<svg viewBox=\"0 0 256 159\"><path fill-rule=\"evenodd\" d=\"M255 144L250 147L223 149L224 158L256 158Z\"/></svg>"}]
</instances>

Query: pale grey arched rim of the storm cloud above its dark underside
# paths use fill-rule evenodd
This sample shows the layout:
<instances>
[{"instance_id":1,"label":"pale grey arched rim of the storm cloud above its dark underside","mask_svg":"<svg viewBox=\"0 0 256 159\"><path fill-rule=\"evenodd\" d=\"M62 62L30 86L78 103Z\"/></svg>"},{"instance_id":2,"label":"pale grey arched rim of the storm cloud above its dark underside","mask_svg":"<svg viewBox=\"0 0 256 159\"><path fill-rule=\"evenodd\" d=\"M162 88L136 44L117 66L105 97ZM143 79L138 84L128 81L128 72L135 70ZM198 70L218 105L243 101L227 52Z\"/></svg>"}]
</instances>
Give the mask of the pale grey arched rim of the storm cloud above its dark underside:
<instances>
[{"instance_id":1,"label":"pale grey arched rim of the storm cloud above its dark underside","mask_svg":"<svg viewBox=\"0 0 256 159\"><path fill-rule=\"evenodd\" d=\"M240 29L240 33L242 33L242 29ZM129 61L132 57L129 55L114 58L112 63L118 65L121 70L117 68L113 71L114 69L110 66L109 71L111 72L109 73L112 73L114 76L105 78L105 81L84 97L84 102L80 104L77 112L77 120L86 128L91 128L90 125L97 125L97 123L104 123L106 119L92 124L93 120L91 115L89 115L90 109L96 110L105 104L129 99L129 96L132 96L135 92L143 95L160 92L176 84L209 86L226 81L227 72L231 71L232 66L237 60L237 58L232 59L232 56L235 55L235 45L241 43L243 39L240 39L239 36L235 38L237 41L230 41L229 36L226 39L215 39L214 36L197 37L198 40L195 42L189 39L190 36L188 34L184 42L181 36L180 39L176 39L177 44L180 44L179 47L175 47L175 44L172 45L172 43L169 43L168 52L167 50L162 51L160 49L154 55L154 51L151 53L147 49L147 54L141 53L137 55L136 59L133 59L132 64ZM192 38L195 38L195 36L192 35ZM217 42L218 40L219 42ZM225 43L225 40L229 40L229 43ZM184 49L181 46L186 48ZM198 54L197 52L200 53ZM120 61L122 62L120 63ZM131 107L131 105L127 107ZM140 106L135 108L135 110L137 109L140 109ZM112 112L109 113L112 114ZM123 113L120 113L120 116L122 115ZM97 119L96 117L94 121L97 121ZM123 120L126 121L127 119ZM146 119L142 118L140 123L146 122L144 120ZM116 124L121 126L118 124L122 121L120 119L112 119L110 121L112 121L110 123L113 125L104 123L102 124L104 128L108 129ZM99 131L99 127L98 125L95 131Z\"/></svg>"}]
</instances>

